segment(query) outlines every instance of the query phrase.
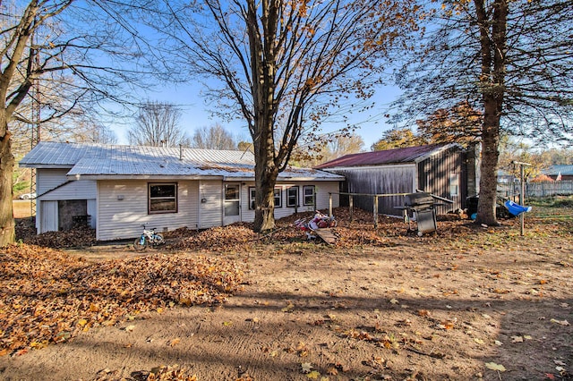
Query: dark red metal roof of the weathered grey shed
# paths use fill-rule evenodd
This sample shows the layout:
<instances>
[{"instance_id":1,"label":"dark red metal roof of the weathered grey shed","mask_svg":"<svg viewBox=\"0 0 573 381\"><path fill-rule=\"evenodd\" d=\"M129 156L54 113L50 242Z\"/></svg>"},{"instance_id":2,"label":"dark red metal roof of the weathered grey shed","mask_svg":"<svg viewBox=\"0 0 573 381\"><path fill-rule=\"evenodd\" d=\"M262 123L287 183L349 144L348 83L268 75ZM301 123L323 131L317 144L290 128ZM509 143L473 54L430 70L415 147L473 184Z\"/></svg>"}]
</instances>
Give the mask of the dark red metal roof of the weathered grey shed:
<instances>
[{"instance_id":1,"label":"dark red metal roof of the weathered grey shed","mask_svg":"<svg viewBox=\"0 0 573 381\"><path fill-rule=\"evenodd\" d=\"M315 168L335 168L343 166L363 166L363 165L389 165L414 163L416 159L424 157L448 146L433 144L427 146L407 147L387 149L384 151L363 152L359 154L346 155L338 159L331 160Z\"/></svg>"}]
</instances>

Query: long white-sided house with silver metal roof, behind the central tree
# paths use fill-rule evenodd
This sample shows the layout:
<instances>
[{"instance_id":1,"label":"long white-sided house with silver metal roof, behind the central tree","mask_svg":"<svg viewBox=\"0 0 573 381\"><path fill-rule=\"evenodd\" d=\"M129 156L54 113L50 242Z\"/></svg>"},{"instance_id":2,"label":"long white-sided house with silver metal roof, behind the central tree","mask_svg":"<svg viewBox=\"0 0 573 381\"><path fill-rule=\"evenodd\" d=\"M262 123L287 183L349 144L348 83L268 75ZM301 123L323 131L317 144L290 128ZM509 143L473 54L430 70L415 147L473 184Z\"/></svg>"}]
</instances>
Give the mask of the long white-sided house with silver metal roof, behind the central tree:
<instances>
[{"instance_id":1,"label":"long white-sided house with silver metal roof, behind the central tree","mask_svg":"<svg viewBox=\"0 0 573 381\"><path fill-rule=\"evenodd\" d=\"M43 141L20 162L36 168L38 233L90 224L100 241L254 220L251 152ZM290 168L278 175L275 217L329 207L343 176ZM338 206L338 198L333 199Z\"/></svg>"}]
</instances>

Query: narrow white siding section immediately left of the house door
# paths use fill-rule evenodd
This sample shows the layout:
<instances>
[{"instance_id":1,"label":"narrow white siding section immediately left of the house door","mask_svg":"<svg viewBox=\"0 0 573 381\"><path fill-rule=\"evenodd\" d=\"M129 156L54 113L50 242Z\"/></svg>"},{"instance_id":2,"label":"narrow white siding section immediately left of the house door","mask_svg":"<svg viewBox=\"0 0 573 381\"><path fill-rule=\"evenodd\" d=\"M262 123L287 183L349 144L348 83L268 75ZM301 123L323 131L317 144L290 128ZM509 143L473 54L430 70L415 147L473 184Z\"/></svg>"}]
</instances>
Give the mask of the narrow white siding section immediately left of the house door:
<instances>
[{"instance_id":1,"label":"narrow white siding section immediately left of the house door","mask_svg":"<svg viewBox=\"0 0 573 381\"><path fill-rule=\"evenodd\" d=\"M223 182L202 181L199 185L199 227L201 229L223 224ZM244 204L246 205L246 204Z\"/></svg>"}]
</instances>

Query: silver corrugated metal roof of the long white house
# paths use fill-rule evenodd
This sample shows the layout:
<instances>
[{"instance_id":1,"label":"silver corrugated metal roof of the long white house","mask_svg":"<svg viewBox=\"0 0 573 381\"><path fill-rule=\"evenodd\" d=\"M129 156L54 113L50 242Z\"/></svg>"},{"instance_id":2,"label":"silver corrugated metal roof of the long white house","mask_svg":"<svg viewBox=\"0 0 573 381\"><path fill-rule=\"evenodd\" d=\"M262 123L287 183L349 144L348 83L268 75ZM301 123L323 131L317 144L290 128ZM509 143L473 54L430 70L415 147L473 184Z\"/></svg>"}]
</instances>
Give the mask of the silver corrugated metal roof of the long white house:
<instances>
[{"instance_id":1,"label":"silver corrugated metal roof of the long white house","mask_svg":"<svg viewBox=\"0 0 573 381\"><path fill-rule=\"evenodd\" d=\"M43 141L21 159L21 166L70 167L68 176L221 176L252 178L250 151L58 143ZM279 178L341 180L313 169L288 169Z\"/></svg>"}]
</instances>

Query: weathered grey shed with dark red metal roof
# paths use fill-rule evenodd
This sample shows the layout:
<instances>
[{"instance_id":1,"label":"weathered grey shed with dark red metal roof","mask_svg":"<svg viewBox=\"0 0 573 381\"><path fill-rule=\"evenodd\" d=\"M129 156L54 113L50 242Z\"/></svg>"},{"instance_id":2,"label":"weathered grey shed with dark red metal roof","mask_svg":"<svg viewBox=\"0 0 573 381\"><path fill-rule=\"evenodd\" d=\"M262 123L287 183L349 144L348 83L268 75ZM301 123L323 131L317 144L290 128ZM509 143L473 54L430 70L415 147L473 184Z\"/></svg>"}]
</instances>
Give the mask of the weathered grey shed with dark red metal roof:
<instances>
[{"instance_id":1,"label":"weathered grey shed with dark red metal roof","mask_svg":"<svg viewBox=\"0 0 573 381\"><path fill-rule=\"evenodd\" d=\"M399 216L404 205L400 193L422 190L453 204L438 207L438 213L466 207L466 198L477 194L475 148L458 144L426 145L346 155L316 166L346 177L344 192L384 194L379 198L380 214ZM341 201L343 202L343 201ZM372 196L353 196L354 205L373 209Z\"/></svg>"}]
</instances>

